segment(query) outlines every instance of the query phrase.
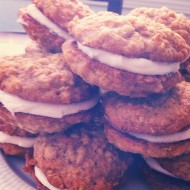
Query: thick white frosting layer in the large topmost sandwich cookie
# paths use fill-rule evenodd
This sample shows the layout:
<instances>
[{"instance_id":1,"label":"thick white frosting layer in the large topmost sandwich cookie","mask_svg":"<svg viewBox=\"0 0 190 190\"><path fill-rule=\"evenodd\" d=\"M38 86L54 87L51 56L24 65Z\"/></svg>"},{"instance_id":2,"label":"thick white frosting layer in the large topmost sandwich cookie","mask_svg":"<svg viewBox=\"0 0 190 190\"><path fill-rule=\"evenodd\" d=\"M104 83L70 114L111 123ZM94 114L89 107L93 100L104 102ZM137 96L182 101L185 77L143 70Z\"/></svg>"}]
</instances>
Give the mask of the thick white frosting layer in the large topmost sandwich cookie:
<instances>
[{"instance_id":1,"label":"thick white frosting layer in the large topmost sandwich cookie","mask_svg":"<svg viewBox=\"0 0 190 190\"><path fill-rule=\"evenodd\" d=\"M165 75L176 73L180 63L162 63L144 58L127 58L101 49L83 46L77 42L78 48L90 58L98 60L108 66L143 75Z\"/></svg>"}]
</instances>

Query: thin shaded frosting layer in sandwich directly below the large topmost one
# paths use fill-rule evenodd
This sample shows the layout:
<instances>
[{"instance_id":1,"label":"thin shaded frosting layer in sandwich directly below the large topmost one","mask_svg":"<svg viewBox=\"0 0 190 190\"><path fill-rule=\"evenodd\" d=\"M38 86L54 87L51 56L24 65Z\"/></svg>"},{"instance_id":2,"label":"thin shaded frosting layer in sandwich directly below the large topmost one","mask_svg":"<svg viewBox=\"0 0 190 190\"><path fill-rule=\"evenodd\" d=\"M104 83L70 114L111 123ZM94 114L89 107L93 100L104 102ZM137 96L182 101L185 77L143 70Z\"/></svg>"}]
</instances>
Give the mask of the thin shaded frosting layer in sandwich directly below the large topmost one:
<instances>
[{"instance_id":1,"label":"thin shaded frosting layer in sandwich directly below the large topmost one","mask_svg":"<svg viewBox=\"0 0 190 190\"><path fill-rule=\"evenodd\" d=\"M176 132L171 135L163 135L163 136L143 135L137 133L129 133L129 134L138 139L143 139L154 143L172 143L172 142L179 142L190 139L190 129L181 132Z\"/></svg>"}]
</instances>

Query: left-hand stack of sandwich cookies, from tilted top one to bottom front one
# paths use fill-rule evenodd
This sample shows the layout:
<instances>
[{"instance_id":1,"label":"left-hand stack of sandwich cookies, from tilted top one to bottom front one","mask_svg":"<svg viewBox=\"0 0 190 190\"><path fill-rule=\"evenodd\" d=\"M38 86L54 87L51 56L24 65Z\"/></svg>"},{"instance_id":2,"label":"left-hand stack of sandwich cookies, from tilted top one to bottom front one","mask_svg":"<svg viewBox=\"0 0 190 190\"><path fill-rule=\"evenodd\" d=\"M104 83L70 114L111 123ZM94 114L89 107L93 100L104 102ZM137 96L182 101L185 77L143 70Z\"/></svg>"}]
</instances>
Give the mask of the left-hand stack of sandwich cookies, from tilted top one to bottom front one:
<instances>
[{"instance_id":1,"label":"left-hand stack of sandwich cookies, from tilted top one to bottom front one","mask_svg":"<svg viewBox=\"0 0 190 190\"><path fill-rule=\"evenodd\" d=\"M99 88L73 73L61 50L73 39L68 22L89 14L78 0L33 1L18 16L32 45L0 59L0 147L26 157L41 190L111 190L132 162L104 135Z\"/></svg>"}]
</instances>

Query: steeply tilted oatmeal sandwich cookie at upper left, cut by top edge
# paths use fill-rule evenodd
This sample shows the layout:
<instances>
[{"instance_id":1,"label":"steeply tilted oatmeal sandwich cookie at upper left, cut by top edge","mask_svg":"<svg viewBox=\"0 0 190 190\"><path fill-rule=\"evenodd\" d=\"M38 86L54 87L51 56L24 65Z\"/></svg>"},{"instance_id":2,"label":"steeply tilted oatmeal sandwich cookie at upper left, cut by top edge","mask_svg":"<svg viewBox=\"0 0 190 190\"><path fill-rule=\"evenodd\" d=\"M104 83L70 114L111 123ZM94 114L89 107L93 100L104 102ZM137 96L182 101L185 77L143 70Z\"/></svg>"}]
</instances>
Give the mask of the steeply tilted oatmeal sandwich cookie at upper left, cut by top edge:
<instances>
[{"instance_id":1,"label":"steeply tilted oatmeal sandwich cookie at upper left, cut by top edge","mask_svg":"<svg viewBox=\"0 0 190 190\"><path fill-rule=\"evenodd\" d=\"M18 22L32 40L50 52L61 52L61 45L73 37L68 33L68 22L74 16L83 18L93 11L78 0L33 0L21 8Z\"/></svg>"}]
</instances>

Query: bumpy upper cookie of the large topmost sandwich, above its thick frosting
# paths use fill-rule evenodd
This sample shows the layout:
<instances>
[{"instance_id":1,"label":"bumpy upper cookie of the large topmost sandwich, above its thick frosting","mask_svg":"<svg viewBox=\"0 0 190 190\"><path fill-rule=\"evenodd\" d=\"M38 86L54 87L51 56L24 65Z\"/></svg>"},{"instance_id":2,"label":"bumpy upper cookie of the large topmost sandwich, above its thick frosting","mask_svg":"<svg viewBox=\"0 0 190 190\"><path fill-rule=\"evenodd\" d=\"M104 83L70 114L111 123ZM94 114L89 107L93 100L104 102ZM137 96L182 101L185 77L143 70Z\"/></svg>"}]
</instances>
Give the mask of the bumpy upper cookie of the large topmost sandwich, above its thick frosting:
<instances>
[{"instance_id":1,"label":"bumpy upper cookie of the large topmost sandwich, above its thick frosting","mask_svg":"<svg viewBox=\"0 0 190 190\"><path fill-rule=\"evenodd\" d=\"M75 17L68 29L84 46L130 58L172 63L189 56L189 46L179 34L144 18L99 12L83 19Z\"/></svg>"}]
</instances>

